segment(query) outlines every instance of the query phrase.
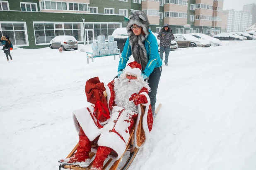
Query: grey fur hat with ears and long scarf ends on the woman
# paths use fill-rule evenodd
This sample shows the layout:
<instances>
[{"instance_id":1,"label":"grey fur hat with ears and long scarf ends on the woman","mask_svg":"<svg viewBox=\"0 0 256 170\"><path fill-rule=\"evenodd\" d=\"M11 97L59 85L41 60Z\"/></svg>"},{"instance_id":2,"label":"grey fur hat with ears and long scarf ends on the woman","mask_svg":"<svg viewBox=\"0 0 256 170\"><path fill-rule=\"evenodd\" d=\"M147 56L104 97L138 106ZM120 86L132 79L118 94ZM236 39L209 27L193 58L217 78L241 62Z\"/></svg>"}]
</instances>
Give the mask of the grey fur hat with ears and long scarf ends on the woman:
<instances>
[{"instance_id":1,"label":"grey fur hat with ears and long scarf ends on the woman","mask_svg":"<svg viewBox=\"0 0 256 170\"><path fill-rule=\"evenodd\" d=\"M130 20L126 26L127 33L129 35L129 43L132 50L133 58L135 61L141 64L142 71L145 70L147 66L147 51L145 48L145 39L150 34L149 32L149 21L147 15L142 11L135 11L130 15ZM134 24L141 26L143 28L143 33L140 35L135 35L133 29L131 28Z\"/></svg>"}]
</instances>

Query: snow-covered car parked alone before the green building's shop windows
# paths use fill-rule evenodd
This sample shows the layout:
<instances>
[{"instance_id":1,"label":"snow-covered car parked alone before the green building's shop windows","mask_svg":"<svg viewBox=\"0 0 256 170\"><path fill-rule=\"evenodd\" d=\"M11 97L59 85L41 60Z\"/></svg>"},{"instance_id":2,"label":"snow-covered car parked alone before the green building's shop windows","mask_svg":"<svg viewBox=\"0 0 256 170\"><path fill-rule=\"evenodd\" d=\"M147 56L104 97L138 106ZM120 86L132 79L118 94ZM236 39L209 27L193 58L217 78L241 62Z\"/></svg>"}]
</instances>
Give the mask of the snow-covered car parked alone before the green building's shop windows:
<instances>
[{"instance_id":1,"label":"snow-covered car parked alone before the green building's shop windows","mask_svg":"<svg viewBox=\"0 0 256 170\"><path fill-rule=\"evenodd\" d=\"M62 47L63 50L74 49L77 50L78 44L75 37L70 35L59 35L53 38L49 44L50 48Z\"/></svg>"}]
</instances>

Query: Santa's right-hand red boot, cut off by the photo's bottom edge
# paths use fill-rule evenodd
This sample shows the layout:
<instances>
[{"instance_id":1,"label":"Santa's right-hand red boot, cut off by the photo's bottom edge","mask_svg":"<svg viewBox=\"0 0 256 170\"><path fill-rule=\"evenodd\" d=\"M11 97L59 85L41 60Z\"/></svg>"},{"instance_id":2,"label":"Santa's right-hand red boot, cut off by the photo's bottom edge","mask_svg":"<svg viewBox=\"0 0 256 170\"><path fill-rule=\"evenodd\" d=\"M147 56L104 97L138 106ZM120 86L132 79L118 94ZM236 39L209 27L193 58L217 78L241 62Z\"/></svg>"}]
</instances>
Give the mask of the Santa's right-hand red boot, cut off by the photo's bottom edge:
<instances>
[{"instance_id":1,"label":"Santa's right-hand red boot, cut off by the photo's bottom edge","mask_svg":"<svg viewBox=\"0 0 256 170\"><path fill-rule=\"evenodd\" d=\"M103 163L113 149L106 146L99 146L97 149L96 157L92 163L91 170L102 170Z\"/></svg>"}]
</instances>

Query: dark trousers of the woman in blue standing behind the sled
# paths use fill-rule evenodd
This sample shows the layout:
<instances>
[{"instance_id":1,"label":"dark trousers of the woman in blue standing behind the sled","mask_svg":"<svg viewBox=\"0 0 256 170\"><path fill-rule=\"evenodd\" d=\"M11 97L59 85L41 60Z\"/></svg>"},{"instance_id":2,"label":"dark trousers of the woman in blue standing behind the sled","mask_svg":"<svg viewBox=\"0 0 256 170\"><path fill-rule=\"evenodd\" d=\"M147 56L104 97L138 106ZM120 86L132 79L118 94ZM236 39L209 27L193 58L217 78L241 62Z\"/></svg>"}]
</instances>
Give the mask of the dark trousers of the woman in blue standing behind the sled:
<instances>
[{"instance_id":1,"label":"dark trousers of the woman in blue standing behind the sled","mask_svg":"<svg viewBox=\"0 0 256 170\"><path fill-rule=\"evenodd\" d=\"M152 108L153 116L155 115L155 105L157 102L157 88L162 73L162 66L155 68L149 76L147 81L151 91L148 93L150 97L150 103Z\"/></svg>"}]
</instances>

